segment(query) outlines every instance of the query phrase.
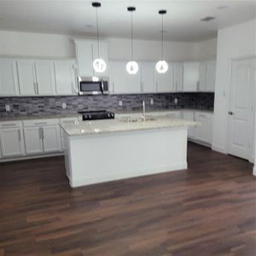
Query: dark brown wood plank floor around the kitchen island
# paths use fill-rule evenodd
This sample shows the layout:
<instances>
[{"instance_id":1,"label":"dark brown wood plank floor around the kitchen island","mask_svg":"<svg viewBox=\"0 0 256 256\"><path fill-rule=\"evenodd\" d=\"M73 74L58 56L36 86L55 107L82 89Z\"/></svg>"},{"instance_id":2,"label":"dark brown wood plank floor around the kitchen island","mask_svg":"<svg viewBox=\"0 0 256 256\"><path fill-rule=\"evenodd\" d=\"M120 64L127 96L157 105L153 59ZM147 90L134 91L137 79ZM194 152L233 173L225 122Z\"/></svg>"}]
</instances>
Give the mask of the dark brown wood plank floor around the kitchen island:
<instances>
[{"instance_id":1,"label":"dark brown wood plank floor around the kitchen island","mask_svg":"<svg viewBox=\"0 0 256 256\"><path fill-rule=\"evenodd\" d=\"M187 171L79 189L62 157L1 164L0 255L254 256L252 168L192 143Z\"/></svg>"}]
</instances>

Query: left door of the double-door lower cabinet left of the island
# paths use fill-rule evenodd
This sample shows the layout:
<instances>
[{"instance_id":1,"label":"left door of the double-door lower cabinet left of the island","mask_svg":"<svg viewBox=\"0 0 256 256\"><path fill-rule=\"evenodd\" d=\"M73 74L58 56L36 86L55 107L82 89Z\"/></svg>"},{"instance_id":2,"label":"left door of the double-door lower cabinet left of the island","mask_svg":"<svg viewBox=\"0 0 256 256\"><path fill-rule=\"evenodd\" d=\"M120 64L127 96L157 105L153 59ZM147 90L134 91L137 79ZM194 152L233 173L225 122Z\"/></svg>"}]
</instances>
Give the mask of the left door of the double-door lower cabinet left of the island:
<instances>
[{"instance_id":1,"label":"left door of the double-door lower cabinet left of the island","mask_svg":"<svg viewBox=\"0 0 256 256\"><path fill-rule=\"evenodd\" d=\"M24 139L26 154L43 153L42 128L24 127Z\"/></svg>"}]
</instances>

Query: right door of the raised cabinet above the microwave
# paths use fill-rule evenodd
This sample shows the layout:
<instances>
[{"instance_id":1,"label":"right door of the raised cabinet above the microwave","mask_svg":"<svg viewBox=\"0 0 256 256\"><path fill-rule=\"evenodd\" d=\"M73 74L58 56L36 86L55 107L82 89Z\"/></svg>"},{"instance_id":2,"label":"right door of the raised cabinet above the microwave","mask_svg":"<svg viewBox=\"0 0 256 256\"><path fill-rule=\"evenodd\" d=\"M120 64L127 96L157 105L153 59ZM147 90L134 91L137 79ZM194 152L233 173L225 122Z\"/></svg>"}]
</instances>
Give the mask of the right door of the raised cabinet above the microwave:
<instances>
[{"instance_id":1,"label":"right door of the raised cabinet above the microwave","mask_svg":"<svg viewBox=\"0 0 256 256\"><path fill-rule=\"evenodd\" d=\"M96 42L92 43L92 59L91 63L95 59L98 59L98 44ZM108 43L106 42L100 42L100 58L103 59L106 62L107 68L102 73L96 73L96 71L93 69L93 74L96 77L108 77L109 73L109 63L108 63Z\"/></svg>"}]
</instances>

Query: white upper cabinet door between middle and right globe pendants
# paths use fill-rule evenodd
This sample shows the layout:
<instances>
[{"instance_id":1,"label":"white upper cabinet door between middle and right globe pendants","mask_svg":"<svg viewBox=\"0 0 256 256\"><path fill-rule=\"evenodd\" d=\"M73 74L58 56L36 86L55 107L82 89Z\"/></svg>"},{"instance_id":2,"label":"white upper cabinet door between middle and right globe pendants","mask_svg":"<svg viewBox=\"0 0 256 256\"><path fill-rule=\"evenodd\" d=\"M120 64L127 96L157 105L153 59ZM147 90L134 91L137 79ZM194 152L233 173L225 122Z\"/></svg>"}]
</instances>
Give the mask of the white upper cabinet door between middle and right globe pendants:
<instances>
[{"instance_id":1,"label":"white upper cabinet door between middle and right globe pendants","mask_svg":"<svg viewBox=\"0 0 256 256\"><path fill-rule=\"evenodd\" d=\"M141 77L142 77L142 90L144 93L156 92L154 71L155 71L154 62L142 62Z\"/></svg>"}]
</instances>

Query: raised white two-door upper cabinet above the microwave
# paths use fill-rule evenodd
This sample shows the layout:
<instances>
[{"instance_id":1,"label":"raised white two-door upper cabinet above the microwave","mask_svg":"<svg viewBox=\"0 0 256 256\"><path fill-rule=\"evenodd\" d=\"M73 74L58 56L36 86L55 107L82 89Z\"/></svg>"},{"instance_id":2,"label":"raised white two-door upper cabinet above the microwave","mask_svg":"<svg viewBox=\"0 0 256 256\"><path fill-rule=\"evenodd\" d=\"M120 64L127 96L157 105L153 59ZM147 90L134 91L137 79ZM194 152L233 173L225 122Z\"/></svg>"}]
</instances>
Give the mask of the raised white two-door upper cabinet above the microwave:
<instances>
[{"instance_id":1,"label":"raised white two-door upper cabinet above the microwave","mask_svg":"<svg viewBox=\"0 0 256 256\"><path fill-rule=\"evenodd\" d=\"M104 73L95 73L93 61L98 58L98 45L96 41L74 40L76 56L79 66L79 77L91 78L93 76L108 77L108 43L100 42L100 57L106 61L107 69Z\"/></svg>"}]
</instances>

